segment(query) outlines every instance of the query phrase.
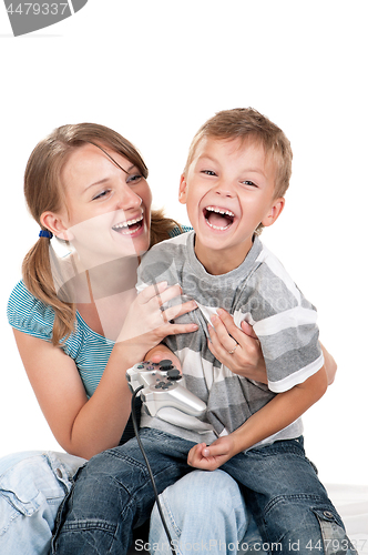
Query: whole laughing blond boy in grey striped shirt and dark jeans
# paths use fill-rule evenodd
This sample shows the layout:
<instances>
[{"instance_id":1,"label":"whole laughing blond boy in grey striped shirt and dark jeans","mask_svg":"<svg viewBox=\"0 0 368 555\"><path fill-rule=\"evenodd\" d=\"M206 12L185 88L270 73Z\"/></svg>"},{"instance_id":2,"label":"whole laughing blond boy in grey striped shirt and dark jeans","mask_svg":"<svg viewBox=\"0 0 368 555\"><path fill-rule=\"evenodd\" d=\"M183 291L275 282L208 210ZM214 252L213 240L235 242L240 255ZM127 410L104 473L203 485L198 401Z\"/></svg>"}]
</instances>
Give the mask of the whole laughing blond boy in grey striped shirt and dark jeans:
<instances>
[{"instance_id":1,"label":"whole laughing blond boy in grey striped shirt and dark jeans","mask_svg":"<svg viewBox=\"0 0 368 555\"><path fill-rule=\"evenodd\" d=\"M269 551L352 553L300 436L300 415L327 385L316 312L257 236L284 208L290 163L284 133L254 110L221 112L194 138L180 185L194 231L149 251L139 286L178 282L196 300L200 330L166 345L207 412L203 418L174 408L142 414L140 438L159 493L191 466L222 466L241 485ZM268 386L212 354L207 322L217 307L237 325L254 325ZM232 356L239 347L228 337L226 349ZM136 440L101 453L79 474L53 553L73 553L83 539L89 553L125 554L133 525L149 518L153 504Z\"/></svg>"}]
</instances>

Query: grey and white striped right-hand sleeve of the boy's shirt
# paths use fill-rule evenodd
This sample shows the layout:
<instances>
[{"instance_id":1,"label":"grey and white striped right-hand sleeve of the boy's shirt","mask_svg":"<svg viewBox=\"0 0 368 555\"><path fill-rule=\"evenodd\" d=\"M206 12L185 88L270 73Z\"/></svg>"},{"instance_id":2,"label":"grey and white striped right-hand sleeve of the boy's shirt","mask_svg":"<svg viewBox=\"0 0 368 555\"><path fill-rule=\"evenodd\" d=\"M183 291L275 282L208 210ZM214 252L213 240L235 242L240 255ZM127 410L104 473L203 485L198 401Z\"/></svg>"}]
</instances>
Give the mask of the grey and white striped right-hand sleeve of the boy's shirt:
<instances>
[{"instance_id":1,"label":"grey and white striped right-hand sleeve of the boy's shirt","mask_svg":"<svg viewBox=\"0 0 368 555\"><path fill-rule=\"evenodd\" d=\"M268 387L282 393L324 365L317 311L269 251L263 253L251 284L255 293L248 300L252 317L246 320L260 342Z\"/></svg>"}]
</instances>

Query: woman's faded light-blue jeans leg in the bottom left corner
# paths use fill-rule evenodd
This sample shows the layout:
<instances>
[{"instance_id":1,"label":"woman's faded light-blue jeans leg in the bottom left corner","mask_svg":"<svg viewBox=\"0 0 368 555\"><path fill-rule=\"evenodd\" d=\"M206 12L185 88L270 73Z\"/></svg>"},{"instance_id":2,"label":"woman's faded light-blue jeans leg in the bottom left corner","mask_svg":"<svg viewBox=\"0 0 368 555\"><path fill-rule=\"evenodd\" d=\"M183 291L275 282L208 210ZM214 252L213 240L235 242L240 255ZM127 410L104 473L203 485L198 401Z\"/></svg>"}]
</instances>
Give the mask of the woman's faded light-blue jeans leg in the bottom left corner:
<instances>
[{"instance_id":1,"label":"woman's faded light-blue jeans leg in the bottom left corner","mask_svg":"<svg viewBox=\"0 0 368 555\"><path fill-rule=\"evenodd\" d=\"M85 461L31 451L0 460L0 553L47 555L59 505Z\"/></svg>"}]
</instances>

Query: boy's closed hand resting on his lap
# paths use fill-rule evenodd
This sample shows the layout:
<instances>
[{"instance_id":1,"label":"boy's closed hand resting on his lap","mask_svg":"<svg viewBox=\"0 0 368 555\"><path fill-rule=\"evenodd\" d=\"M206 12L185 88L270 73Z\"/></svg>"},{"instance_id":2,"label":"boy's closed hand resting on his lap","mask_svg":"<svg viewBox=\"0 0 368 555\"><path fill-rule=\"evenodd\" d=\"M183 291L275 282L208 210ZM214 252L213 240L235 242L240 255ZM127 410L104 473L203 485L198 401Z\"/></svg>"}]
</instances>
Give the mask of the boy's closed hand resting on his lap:
<instances>
[{"instance_id":1,"label":"boy's closed hand resting on his lap","mask_svg":"<svg viewBox=\"0 0 368 555\"><path fill-rule=\"evenodd\" d=\"M219 437L212 445L198 443L191 448L187 464L203 471L215 471L236 454L232 435Z\"/></svg>"}]
</instances>

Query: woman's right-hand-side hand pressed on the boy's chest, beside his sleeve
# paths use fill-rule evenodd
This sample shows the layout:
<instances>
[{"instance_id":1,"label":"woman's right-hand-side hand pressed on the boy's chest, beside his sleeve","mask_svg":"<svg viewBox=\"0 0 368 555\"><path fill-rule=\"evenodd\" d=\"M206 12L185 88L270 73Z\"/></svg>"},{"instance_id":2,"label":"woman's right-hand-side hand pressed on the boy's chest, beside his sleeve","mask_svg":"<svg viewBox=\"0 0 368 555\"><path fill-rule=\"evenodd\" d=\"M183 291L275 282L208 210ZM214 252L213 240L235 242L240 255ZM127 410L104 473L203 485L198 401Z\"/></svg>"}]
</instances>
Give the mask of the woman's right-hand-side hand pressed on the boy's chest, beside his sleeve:
<instances>
[{"instance_id":1,"label":"woman's right-hand-side hand pressed on the boy's chest, beside his sleeve","mask_svg":"<svg viewBox=\"0 0 368 555\"><path fill-rule=\"evenodd\" d=\"M260 344L253 329L242 322L242 330L223 309L213 315L208 325L211 342L208 349L216 359L234 374L267 384L266 365Z\"/></svg>"}]
</instances>

